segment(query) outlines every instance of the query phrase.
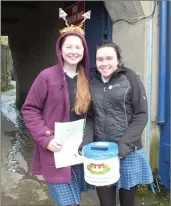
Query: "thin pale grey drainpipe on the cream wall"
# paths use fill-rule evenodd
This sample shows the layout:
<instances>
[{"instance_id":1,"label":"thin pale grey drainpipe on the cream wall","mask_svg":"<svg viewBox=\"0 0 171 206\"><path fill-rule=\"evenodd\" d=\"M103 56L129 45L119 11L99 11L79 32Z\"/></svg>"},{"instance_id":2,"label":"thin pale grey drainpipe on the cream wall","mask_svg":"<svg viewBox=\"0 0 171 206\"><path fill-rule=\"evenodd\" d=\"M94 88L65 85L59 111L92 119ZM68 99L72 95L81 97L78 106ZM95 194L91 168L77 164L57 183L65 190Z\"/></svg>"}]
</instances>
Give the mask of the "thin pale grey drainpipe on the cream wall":
<instances>
[{"instance_id":1,"label":"thin pale grey drainpipe on the cream wall","mask_svg":"<svg viewBox=\"0 0 171 206\"><path fill-rule=\"evenodd\" d=\"M154 3L153 3L154 4ZM150 140L151 140L151 102L152 102L152 61L153 61L153 16L147 18L147 99L148 99L148 122L145 128L145 151L150 160Z\"/></svg>"}]
</instances>

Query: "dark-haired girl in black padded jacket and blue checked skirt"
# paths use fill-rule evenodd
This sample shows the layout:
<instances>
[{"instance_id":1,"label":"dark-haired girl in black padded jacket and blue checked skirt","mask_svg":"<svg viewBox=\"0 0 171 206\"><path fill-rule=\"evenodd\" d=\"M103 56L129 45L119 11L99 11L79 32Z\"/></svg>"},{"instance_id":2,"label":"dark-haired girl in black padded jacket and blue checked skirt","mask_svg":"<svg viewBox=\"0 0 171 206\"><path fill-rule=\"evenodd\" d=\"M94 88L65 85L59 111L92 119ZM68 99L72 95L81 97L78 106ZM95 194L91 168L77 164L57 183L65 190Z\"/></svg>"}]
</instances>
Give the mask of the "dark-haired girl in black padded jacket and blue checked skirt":
<instances>
[{"instance_id":1,"label":"dark-haired girl in black padded jacket and blue checked skirt","mask_svg":"<svg viewBox=\"0 0 171 206\"><path fill-rule=\"evenodd\" d=\"M114 186L97 187L101 206L135 206L137 185L153 182L141 135L148 120L147 98L138 75L121 62L120 48L103 42L96 50L98 73L91 81L95 141L119 146L120 179Z\"/></svg>"}]
</instances>

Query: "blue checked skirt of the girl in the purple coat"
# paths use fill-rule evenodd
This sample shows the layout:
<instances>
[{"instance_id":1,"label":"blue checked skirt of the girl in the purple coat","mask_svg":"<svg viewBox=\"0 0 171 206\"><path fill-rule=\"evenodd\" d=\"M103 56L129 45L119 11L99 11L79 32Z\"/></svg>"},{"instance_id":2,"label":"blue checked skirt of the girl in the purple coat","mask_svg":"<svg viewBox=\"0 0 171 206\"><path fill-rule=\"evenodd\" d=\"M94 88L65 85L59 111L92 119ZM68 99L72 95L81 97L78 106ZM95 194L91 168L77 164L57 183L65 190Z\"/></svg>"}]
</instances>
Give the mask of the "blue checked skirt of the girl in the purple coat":
<instances>
[{"instance_id":1,"label":"blue checked skirt of the girl in the purple coat","mask_svg":"<svg viewBox=\"0 0 171 206\"><path fill-rule=\"evenodd\" d=\"M48 182L51 199L59 206L70 204L79 204L81 193L95 189L84 180L83 165L75 165L71 167L71 184L54 184Z\"/></svg>"}]
</instances>

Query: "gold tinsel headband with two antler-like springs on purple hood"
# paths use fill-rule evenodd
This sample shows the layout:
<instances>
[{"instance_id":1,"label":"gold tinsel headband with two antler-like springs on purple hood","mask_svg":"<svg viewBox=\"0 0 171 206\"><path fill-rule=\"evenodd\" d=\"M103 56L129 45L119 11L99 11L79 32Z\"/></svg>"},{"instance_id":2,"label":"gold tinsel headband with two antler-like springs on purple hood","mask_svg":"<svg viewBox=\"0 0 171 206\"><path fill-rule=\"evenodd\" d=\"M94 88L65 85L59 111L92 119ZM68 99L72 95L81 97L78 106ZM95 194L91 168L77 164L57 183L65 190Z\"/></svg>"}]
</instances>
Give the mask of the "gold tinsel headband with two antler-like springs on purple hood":
<instances>
[{"instance_id":1,"label":"gold tinsel headband with two antler-like springs on purple hood","mask_svg":"<svg viewBox=\"0 0 171 206\"><path fill-rule=\"evenodd\" d=\"M87 20L90 19L90 15L91 15L91 11L88 11L86 13L84 13L82 16L84 17L84 19L82 20L82 22L79 25L69 25L68 21L66 19L67 14L61 9L59 8L59 18L62 18L65 21L65 25L66 27L64 27L63 29L61 29L59 32L60 34L64 34L65 32L68 31L76 31L76 32L80 32L81 34L85 34L84 29L82 28L83 23Z\"/></svg>"}]
</instances>

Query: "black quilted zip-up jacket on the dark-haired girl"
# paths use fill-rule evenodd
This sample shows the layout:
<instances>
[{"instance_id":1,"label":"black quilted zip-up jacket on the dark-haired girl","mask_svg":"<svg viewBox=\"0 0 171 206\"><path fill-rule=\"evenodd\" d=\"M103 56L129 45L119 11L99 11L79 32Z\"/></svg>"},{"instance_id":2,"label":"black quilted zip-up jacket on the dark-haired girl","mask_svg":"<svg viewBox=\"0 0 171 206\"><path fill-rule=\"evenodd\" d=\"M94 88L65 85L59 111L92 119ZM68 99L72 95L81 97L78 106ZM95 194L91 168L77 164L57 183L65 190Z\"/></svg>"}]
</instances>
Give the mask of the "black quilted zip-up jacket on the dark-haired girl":
<instances>
[{"instance_id":1,"label":"black quilted zip-up jacket on the dark-haired girl","mask_svg":"<svg viewBox=\"0 0 171 206\"><path fill-rule=\"evenodd\" d=\"M147 98L138 75L118 68L104 83L98 73L90 83L95 141L113 141L120 156L142 148L141 135L148 120Z\"/></svg>"}]
</instances>

